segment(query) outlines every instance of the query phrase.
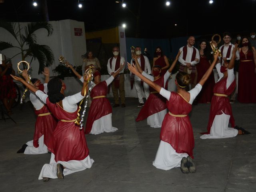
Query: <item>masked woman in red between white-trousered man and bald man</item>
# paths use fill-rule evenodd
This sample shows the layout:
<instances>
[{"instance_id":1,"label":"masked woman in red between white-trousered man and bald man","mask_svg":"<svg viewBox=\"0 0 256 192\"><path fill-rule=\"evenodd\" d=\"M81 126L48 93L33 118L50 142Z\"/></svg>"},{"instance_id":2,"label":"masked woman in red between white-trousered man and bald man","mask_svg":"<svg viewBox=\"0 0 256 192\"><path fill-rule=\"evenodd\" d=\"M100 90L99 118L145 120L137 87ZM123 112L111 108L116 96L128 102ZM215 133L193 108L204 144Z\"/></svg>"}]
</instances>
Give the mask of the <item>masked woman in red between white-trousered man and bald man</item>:
<instances>
[{"instance_id":1,"label":"masked woman in red between white-trousered man and bald man","mask_svg":"<svg viewBox=\"0 0 256 192\"><path fill-rule=\"evenodd\" d=\"M168 58L163 54L161 47L157 47L154 52L153 67L159 65L161 67L161 76L164 76L170 64Z\"/></svg>"}]
</instances>

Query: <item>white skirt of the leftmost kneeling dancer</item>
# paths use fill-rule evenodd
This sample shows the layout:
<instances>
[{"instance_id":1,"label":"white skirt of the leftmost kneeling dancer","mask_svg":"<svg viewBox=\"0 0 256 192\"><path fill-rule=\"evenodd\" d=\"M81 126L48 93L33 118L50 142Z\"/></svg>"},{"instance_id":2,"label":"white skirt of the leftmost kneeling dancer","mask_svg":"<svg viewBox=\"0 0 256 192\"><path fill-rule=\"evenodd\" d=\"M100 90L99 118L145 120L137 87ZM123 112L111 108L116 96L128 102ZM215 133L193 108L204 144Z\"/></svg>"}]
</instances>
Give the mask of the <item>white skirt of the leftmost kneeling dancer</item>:
<instances>
[{"instance_id":1,"label":"white skirt of the leftmost kneeling dancer","mask_svg":"<svg viewBox=\"0 0 256 192\"><path fill-rule=\"evenodd\" d=\"M47 146L44 144L44 135L42 135L39 139L38 139L38 147L34 147L33 146L33 140L28 141L26 143L28 146L26 147L24 154L44 154L44 153L48 153L48 148Z\"/></svg>"}]
</instances>

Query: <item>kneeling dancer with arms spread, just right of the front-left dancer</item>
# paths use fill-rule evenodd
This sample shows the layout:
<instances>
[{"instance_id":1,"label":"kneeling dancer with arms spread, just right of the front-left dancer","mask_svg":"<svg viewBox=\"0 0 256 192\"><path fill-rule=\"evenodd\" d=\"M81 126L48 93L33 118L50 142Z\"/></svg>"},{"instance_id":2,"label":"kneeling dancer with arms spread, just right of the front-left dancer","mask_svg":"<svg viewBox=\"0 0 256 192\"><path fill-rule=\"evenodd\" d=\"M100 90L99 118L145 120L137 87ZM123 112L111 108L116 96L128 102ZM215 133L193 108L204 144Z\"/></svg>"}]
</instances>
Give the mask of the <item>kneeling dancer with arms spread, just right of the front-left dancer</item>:
<instances>
[{"instance_id":1,"label":"kneeling dancer with arms spread, just right of the front-left dancer","mask_svg":"<svg viewBox=\"0 0 256 192\"><path fill-rule=\"evenodd\" d=\"M74 74L84 82L84 78L74 70L72 65L68 65ZM86 120L85 133L100 134L103 132L115 132L118 128L112 126L112 107L109 100L106 98L108 85L114 80L119 72L124 68L124 64L116 70L107 80L100 80L100 72L95 71L93 74L94 86L90 92L92 103L90 106L88 118Z\"/></svg>"}]
</instances>

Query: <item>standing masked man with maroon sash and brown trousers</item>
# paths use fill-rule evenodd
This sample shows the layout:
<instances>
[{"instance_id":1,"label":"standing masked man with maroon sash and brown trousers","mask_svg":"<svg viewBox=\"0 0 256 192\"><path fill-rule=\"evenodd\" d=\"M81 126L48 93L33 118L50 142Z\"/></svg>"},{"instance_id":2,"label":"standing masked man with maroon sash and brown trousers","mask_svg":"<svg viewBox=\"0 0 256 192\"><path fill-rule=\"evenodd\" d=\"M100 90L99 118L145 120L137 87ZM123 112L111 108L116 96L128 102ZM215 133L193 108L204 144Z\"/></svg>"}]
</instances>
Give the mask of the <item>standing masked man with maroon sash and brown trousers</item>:
<instances>
[{"instance_id":1,"label":"standing masked man with maroon sash and brown trousers","mask_svg":"<svg viewBox=\"0 0 256 192\"><path fill-rule=\"evenodd\" d=\"M121 65L125 64L124 57L120 56L119 54L119 48L117 46L114 46L112 48L113 57L108 59L108 74L111 76L113 75ZM114 81L111 84L112 92L114 96L115 104L113 107L118 107L119 105L119 96L118 96L118 90L121 98L121 106L125 107L125 96L124 96L124 68L119 72L119 74L116 76Z\"/></svg>"}]
</instances>

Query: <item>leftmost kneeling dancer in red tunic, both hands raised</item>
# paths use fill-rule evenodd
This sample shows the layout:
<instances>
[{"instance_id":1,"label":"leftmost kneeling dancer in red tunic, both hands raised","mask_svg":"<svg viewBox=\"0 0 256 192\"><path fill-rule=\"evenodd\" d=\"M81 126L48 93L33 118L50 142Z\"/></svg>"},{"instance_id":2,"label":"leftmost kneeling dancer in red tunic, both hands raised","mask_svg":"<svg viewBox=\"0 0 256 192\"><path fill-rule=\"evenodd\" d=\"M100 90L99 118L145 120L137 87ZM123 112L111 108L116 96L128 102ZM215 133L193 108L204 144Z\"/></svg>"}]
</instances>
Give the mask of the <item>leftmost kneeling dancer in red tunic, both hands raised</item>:
<instances>
[{"instance_id":1,"label":"leftmost kneeling dancer in red tunic, both hands raised","mask_svg":"<svg viewBox=\"0 0 256 192\"><path fill-rule=\"evenodd\" d=\"M43 91L47 94L47 83L50 80L50 72L48 68L44 68L43 72L45 76L45 84L42 84L42 82L39 79L33 78L31 80L32 86L37 88L40 91ZM27 70L24 70L22 73L22 76L28 82L28 72ZM52 136L52 132L55 129L57 125L57 120L52 116L52 113L44 104L40 98L34 94L34 92L30 91L30 101L34 106L35 114L36 114L36 124L35 124L35 131L34 131L34 138L31 141L28 141L26 144L22 146L20 150L17 151L17 153L23 153L24 154L44 154L48 152L48 143L50 141L50 138Z\"/></svg>"}]
</instances>

